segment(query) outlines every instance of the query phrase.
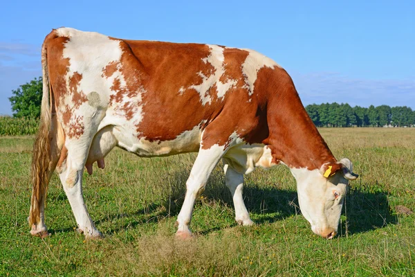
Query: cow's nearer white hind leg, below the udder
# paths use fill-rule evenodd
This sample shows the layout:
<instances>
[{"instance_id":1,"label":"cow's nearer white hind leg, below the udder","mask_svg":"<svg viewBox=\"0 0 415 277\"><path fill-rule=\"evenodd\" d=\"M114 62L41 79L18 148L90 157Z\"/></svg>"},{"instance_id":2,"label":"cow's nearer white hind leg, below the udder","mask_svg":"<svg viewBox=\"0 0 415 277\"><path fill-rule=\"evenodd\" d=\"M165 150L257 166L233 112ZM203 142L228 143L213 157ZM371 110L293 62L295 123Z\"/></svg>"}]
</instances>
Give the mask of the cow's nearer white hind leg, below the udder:
<instances>
[{"instance_id":1,"label":"cow's nearer white hind leg, below the udder","mask_svg":"<svg viewBox=\"0 0 415 277\"><path fill-rule=\"evenodd\" d=\"M75 151L75 148L68 149L66 159L62 161L62 164L59 165L58 163L57 172L59 173L69 204L71 204L78 231L84 233L86 238L101 238L102 234L95 229L91 217L88 211L86 211L82 195L82 173L84 172L88 148L80 145L77 145L77 148L77 151Z\"/></svg>"}]
</instances>

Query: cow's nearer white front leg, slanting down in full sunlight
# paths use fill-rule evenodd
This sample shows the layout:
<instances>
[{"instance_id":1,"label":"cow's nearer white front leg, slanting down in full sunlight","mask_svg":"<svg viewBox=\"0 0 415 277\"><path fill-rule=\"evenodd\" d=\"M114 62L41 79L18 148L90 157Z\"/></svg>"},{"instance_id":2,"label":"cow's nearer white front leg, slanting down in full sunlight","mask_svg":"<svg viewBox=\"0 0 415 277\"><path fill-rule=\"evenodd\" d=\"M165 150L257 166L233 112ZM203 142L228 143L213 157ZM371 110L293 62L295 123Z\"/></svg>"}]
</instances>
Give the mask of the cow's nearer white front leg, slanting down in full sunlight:
<instances>
[{"instance_id":1,"label":"cow's nearer white front leg, slanting down in full sunlight","mask_svg":"<svg viewBox=\"0 0 415 277\"><path fill-rule=\"evenodd\" d=\"M213 145L209 149L199 150L199 154L190 172L190 177L186 182L185 201L183 202L176 222L178 225L176 236L180 238L190 238L192 236L189 225L192 218L194 202L196 201L196 197L203 193L210 173L225 153L224 149L224 146Z\"/></svg>"}]
</instances>

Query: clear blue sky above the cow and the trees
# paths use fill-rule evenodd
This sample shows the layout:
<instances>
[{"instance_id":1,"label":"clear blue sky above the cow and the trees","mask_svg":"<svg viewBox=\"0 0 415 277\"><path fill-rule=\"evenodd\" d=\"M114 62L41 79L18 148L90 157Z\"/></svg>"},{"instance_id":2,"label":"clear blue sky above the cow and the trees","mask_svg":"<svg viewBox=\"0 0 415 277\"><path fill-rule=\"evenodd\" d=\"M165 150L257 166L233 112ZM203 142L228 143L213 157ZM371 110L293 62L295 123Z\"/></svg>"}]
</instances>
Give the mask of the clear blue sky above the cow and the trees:
<instances>
[{"instance_id":1,"label":"clear blue sky above the cow and the trees","mask_svg":"<svg viewBox=\"0 0 415 277\"><path fill-rule=\"evenodd\" d=\"M4 1L0 114L41 75L40 46L67 26L113 37L252 48L291 74L304 105L415 109L415 1Z\"/></svg>"}]
</instances>

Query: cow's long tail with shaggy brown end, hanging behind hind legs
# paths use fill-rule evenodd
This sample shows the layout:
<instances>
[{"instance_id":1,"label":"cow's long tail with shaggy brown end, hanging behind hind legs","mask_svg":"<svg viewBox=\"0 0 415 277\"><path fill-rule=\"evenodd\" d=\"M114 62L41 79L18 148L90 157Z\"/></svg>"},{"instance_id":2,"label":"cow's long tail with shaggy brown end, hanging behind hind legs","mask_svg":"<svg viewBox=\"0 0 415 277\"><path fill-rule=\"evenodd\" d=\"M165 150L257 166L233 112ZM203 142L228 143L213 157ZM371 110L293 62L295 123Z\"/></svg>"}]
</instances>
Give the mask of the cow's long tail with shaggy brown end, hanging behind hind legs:
<instances>
[{"instance_id":1,"label":"cow's long tail with shaggy brown end, hanging behind hind legs","mask_svg":"<svg viewBox=\"0 0 415 277\"><path fill-rule=\"evenodd\" d=\"M32 199L30 204L29 224L37 225L41 222L41 209L46 198L51 171L51 111L50 111L50 82L48 76L48 62L46 57L46 39L42 45L42 73L43 96L40 111L39 130L33 145L33 158L31 166ZM43 216L43 215L42 215Z\"/></svg>"}]
</instances>

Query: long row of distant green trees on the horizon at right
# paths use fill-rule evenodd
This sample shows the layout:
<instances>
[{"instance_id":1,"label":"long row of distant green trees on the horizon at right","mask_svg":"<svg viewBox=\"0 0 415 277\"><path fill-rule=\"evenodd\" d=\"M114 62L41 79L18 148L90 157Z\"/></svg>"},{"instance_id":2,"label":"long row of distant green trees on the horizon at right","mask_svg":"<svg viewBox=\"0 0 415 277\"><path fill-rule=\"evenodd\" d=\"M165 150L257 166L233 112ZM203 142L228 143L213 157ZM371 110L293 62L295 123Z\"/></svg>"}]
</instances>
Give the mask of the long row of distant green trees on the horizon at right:
<instances>
[{"instance_id":1,"label":"long row of distant green trees on the horizon at right","mask_svg":"<svg viewBox=\"0 0 415 277\"><path fill-rule=\"evenodd\" d=\"M308 105L306 111L317 127L415 126L415 111L406 106L371 105L365 108L334 102Z\"/></svg>"}]
</instances>

